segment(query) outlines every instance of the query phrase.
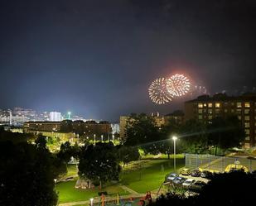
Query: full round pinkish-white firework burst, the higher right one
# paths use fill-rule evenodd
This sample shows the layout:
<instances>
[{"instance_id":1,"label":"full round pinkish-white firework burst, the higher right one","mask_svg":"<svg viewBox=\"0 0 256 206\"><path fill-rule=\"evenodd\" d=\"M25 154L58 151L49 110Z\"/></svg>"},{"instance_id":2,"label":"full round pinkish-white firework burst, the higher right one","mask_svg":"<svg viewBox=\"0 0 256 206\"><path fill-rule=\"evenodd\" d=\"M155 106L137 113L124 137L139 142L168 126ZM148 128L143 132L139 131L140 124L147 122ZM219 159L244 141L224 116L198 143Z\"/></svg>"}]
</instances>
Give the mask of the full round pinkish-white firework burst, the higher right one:
<instances>
[{"instance_id":1,"label":"full round pinkish-white firework burst, the higher right one","mask_svg":"<svg viewBox=\"0 0 256 206\"><path fill-rule=\"evenodd\" d=\"M167 79L167 91L171 96L181 97L191 89L191 82L183 74L174 74Z\"/></svg>"}]
</instances>

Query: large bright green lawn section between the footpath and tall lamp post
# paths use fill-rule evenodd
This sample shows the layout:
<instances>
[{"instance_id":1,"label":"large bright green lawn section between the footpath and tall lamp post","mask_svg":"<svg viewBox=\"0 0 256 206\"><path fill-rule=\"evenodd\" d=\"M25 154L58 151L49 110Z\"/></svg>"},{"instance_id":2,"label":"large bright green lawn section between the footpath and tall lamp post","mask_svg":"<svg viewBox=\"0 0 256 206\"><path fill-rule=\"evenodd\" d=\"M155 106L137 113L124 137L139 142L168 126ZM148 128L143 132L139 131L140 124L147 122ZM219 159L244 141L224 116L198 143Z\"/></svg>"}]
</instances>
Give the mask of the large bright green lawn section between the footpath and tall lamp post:
<instances>
[{"instance_id":1,"label":"large bright green lawn section between the footpath and tall lamp post","mask_svg":"<svg viewBox=\"0 0 256 206\"><path fill-rule=\"evenodd\" d=\"M146 193L158 189L165 176L173 171L173 159L152 159L142 161L141 170L123 170L122 184L138 193ZM162 165L164 171L162 172ZM181 156L176 156L176 170L184 167L185 162Z\"/></svg>"}]
</instances>

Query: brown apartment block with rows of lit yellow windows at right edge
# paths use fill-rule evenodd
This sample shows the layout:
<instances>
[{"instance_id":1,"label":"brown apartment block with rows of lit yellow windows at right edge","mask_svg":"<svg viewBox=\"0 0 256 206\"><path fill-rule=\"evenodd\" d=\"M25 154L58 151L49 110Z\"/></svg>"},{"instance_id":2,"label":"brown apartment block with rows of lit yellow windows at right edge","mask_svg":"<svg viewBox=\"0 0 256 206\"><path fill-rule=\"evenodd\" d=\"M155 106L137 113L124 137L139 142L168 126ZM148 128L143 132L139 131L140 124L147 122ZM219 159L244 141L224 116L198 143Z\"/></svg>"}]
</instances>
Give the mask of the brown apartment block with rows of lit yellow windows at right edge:
<instances>
[{"instance_id":1,"label":"brown apartment block with rows of lit yellow windows at right edge","mask_svg":"<svg viewBox=\"0 0 256 206\"><path fill-rule=\"evenodd\" d=\"M215 117L236 115L246 133L244 147L256 145L256 94L247 93L229 97L218 93L213 97L203 95L185 103L185 121L197 119L211 123Z\"/></svg>"}]
</instances>

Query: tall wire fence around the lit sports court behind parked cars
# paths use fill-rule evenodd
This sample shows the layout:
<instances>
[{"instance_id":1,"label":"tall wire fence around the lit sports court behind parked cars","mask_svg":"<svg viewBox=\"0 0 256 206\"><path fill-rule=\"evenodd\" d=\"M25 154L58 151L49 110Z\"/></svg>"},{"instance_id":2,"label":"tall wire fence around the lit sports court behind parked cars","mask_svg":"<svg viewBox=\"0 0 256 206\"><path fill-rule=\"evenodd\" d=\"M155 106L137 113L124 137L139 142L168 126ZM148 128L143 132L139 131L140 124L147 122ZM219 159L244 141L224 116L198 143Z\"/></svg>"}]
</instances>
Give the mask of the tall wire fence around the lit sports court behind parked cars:
<instances>
[{"instance_id":1,"label":"tall wire fence around the lit sports court behind parked cars","mask_svg":"<svg viewBox=\"0 0 256 206\"><path fill-rule=\"evenodd\" d=\"M224 172L229 165L244 166L250 172L256 170L256 160L245 157L227 157L186 154L186 168Z\"/></svg>"}]
</instances>

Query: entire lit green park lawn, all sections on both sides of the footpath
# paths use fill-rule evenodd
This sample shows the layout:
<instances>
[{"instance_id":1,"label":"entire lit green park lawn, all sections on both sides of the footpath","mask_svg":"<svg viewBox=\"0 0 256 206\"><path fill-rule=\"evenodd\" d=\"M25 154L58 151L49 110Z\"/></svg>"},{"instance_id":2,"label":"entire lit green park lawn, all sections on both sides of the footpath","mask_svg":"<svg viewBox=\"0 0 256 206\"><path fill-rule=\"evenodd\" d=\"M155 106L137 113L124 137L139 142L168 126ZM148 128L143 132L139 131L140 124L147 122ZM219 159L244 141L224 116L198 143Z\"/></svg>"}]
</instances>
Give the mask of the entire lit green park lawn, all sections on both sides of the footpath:
<instances>
[{"instance_id":1,"label":"entire lit green park lawn, all sections on both sides of the footpath","mask_svg":"<svg viewBox=\"0 0 256 206\"><path fill-rule=\"evenodd\" d=\"M162 165L164 171L162 172ZM176 170L184 167L185 162L183 156L176 156ZM139 169L141 168L141 169ZM120 174L121 184L142 194L147 191L158 189L165 179L165 176L173 171L173 159L167 159L167 156L146 156L142 158L141 166L138 161L125 166ZM77 174L76 165L68 165L68 175ZM97 197L97 189L75 189L76 180L68 182L60 182L56 184L56 191L59 194L59 203L85 201L90 198ZM107 191L108 194L129 194L118 185L111 185L103 188L101 191Z\"/></svg>"}]
</instances>

